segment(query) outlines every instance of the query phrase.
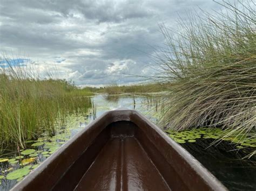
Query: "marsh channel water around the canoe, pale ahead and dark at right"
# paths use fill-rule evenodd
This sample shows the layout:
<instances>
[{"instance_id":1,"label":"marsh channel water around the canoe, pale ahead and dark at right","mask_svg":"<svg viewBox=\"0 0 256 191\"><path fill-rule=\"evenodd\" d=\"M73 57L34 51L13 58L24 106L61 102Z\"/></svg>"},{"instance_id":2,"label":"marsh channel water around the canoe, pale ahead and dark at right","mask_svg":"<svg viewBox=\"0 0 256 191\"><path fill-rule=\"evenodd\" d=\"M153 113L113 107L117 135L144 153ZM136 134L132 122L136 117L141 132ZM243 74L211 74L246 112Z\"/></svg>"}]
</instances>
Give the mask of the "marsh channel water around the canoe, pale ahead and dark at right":
<instances>
[{"instance_id":1,"label":"marsh channel water around the canoe, pale ahead and dark at right","mask_svg":"<svg viewBox=\"0 0 256 191\"><path fill-rule=\"evenodd\" d=\"M10 162L0 162L0 190L9 190L17 183L16 180L7 180L6 176L14 172L16 169L30 167L32 165L41 164L50 154L55 152L60 146L65 144L71 137L75 136L80 130L84 129L87 124L102 115L104 112L114 110L117 108L136 109L142 112L153 123L158 123L161 116L161 107L156 100L158 95L142 96L142 95L96 95L92 97L94 108L88 113L83 115L71 115L67 118L65 127L57 126L57 133L54 137L42 136L35 142L27 143L28 148L35 150L31 155L24 155L17 164L10 164ZM154 100L152 102L152 100ZM255 190L256 189L256 167L255 157L251 161L241 160L251 150L238 151L235 145L230 142L222 142L217 146L209 145L213 139L197 139L195 143L181 144L188 152L197 158L212 174L214 174L223 184L230 190ZM39 143L40 146L32 146ZM41 145L42 144L42 145ZM16 148L11 149L12 152L6 151L1 158L8 158L14 160L19 154ZM232 151L233 150L233 151ZM23 151L21 151L23 152ZM34 156L34 157L31 157ZM22 165L24 159L34 158L32 162ZM2 180L2 181L1 181ZM22 180L19 179L19 180Z\"/></svg>"}]
</instances>

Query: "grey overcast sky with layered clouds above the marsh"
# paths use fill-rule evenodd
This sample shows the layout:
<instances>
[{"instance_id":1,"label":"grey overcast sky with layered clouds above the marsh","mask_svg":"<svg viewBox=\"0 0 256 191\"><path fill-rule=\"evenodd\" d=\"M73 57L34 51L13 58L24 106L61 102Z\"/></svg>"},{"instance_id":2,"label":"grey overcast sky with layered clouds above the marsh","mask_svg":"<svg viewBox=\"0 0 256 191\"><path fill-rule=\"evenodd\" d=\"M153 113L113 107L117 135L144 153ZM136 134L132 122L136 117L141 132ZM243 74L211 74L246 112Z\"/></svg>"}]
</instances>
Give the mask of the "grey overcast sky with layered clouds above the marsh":
<instances>
[{"instance_id":1,"label":"grey overcast sky with layered clouds above the marsh","mask_svg":"<svg viewBox=\"0 0 256 191\"><path fill-rule=\"evenodd\" d=\"M138 82L150 75L152 57L163 46L159 24L176 29L178 18L211 0L1 0L0 52L12 65L34 66L44 76L79 85ZM126 75L131 74L131 75Z\"/></svg>"}]
</instances>

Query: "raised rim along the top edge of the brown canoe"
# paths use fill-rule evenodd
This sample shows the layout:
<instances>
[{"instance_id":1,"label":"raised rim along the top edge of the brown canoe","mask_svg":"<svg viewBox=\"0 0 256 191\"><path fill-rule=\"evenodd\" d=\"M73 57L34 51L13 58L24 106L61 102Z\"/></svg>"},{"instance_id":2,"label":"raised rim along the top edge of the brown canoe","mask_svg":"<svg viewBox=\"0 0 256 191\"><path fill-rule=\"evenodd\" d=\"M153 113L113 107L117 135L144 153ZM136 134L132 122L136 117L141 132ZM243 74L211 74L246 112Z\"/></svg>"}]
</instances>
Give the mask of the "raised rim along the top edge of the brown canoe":
<instances>
[{"instance_id":1,"label":"raised rim along the top edge of the brown canoe","mask_svg":"<svg viewBox=\"0 0 256 191\"><path fill-rule=\"evenodd\" d=\"M192 170L196 172L196 174L200 176L201 179L203 179L203 181L206 182L206 184L211 188L211 190L227 190L227 188L217 178L215 178L215 176L211 174L203 165L201 165L201 163L196 158L194 158L190 153L188 153L185 150L185 148L180 146L178 143L174 142L174 140L172 140L169 136L166 135L165 132L159 129L157 125L153 124L151 121L149 121L149 119L144 117L138 111L129 109L117 109L112 111L106 111L102 116L98 117L95 121L92 121L83 130L78 132L77 135L73 136L70 140L68 140L68 142L61 146L55 153L50 155L49 158L44 160L42 164L39 165L35 170L33 170L29 175L25 176L25 178L21 182L18 182L11 190L25 190L25 188L29 186L29 184L33 180L38 178L38 176L41 175L41 173L43 173L47 168L49 168L49 166L52 163L56 162L56 160L58 160L58 158L65 153L65 150L67 148L69 148L73 144L76 144L77 140L82 138L85 134L90 134L90 131L93 132L93 130L95 129L97 129L97 132L101 132L106 128L107 125L118 121L128 121L136 124L137 126L147 126L147 128L150 128L152 131L156 132L154 136L159 135L164 140L164 144L170 145L174 152L176 152L176 154L178 154L180 158L183 159L185 163L188 166L190 166ZM145 132L145 128L141 129L148 137L147 132ZM89 138L88 143L92 142L92 140L95 139L96 137L97 133ZM152 137L148 138L152 141ZM86 150L89 144L85 146ZM156 143L156 147L158 148L158 150L163 151L163 148L161 148L160 145L158 145L158 143ZM80 157L80 154L76 155L76 159L74 159L73 162L75 162ZM170 161L169 153L162 154L167 161ZM72 164L69 164L69 167L71 165ZM172 165L172 167L175 168L176 165ZM182 173L180 172L180 169L177 168L175 168L175 170L182 178ZM65 169L63 170L65 171Z\"/></svg>"}]
</instances>

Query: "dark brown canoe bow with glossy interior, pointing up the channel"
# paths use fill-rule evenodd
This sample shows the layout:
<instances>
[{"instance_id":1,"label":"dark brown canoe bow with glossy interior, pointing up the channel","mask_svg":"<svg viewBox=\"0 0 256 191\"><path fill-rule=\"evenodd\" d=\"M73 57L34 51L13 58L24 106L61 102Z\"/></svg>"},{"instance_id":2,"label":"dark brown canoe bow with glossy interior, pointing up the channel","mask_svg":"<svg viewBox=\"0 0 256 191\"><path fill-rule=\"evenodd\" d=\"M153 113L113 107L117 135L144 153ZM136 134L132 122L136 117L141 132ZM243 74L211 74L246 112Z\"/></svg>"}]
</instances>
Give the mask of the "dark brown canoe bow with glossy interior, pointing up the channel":
<instances>
[{"instance_id":1,"label":"dark brown canoe bow with glossy interior, pointing up the channel","mask_svg":"<svg viewBox=\"0 0 256 191\"><path fill-rule=\"evenodd\" d=\"M134 110L106 112L12 190L227 190Z\"/></svg>"}]
</instances>

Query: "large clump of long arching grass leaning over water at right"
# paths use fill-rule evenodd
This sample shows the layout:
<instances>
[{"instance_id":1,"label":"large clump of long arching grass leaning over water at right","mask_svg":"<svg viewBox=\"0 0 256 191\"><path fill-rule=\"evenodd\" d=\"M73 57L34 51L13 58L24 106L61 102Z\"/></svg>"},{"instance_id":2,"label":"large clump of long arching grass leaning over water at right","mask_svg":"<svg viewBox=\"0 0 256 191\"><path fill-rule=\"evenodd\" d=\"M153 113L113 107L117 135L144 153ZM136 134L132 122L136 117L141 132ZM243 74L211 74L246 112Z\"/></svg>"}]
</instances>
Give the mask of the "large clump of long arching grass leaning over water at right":
<instances>
[{"instance_id":1,"label":"large clump of long arching grass leaning over water at right","mask_svg":"<svg viewBox=\"0 0 256 191\"><path fill-rule=\"evenodd\" d=\"M158 80L172 84L162 122L176 130L219 126L255 138L255 3L221 5L223 12L193 16L177 31L161 26L167 48L158 54Z\"/></svg>"}]
</instances>

